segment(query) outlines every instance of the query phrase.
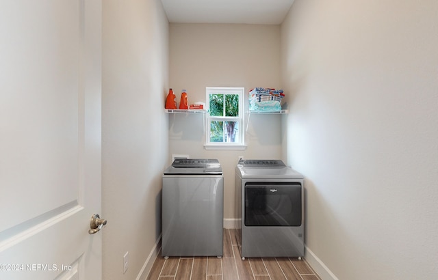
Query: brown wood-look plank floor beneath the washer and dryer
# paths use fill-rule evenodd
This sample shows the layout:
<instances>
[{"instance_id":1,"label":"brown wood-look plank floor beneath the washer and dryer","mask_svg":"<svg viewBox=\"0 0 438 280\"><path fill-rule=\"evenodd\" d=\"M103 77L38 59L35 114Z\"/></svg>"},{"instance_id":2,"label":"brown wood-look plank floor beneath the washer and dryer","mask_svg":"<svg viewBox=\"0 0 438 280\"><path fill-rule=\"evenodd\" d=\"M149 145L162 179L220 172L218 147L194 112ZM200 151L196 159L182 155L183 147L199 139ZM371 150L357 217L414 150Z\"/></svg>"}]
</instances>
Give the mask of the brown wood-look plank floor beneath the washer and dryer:
<instances>
[{"instance_id":1,"label":"brown wood-look plank floor beneath the washer and dryer","mask_svg":"<svg viewBox=\"0 0 438 280\"><path fill-rule=\"evenodd\" d=\"M147 280L320 280L305 260L297 257L247 257L242 260L234 229L224 229L224 255L164 257L155 260Z\"/></svg>"}]
</instances>

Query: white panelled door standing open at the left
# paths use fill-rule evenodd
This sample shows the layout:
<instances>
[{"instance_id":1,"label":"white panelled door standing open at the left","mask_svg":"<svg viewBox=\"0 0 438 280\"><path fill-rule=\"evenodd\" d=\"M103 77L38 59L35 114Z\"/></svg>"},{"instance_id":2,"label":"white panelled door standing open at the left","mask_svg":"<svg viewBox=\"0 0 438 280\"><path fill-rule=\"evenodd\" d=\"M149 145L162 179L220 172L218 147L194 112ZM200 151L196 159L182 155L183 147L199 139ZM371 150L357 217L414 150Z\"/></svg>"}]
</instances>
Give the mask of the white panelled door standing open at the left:
<instances>
[{"instance_id":1,"label":"white panelled door standing open at the left","mask_svg":"<svg viewBox=\"0 0 438 280\"><path fill-rule=\"evenodd\" d=\"M101 279L100 210L101 1L2 0L0 279Z\"/></svg>"}]
</instances>

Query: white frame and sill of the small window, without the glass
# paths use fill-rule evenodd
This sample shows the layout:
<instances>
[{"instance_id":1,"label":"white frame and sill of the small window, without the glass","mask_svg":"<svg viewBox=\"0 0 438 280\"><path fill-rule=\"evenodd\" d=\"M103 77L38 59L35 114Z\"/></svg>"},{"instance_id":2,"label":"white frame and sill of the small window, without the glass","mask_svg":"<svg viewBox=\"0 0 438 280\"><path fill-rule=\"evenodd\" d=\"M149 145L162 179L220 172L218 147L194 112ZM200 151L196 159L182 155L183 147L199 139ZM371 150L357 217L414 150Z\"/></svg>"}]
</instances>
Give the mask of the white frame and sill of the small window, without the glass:
<instances>
[{"instance_id":1,"label":"white frame and sill of the small window, without the glass","mask_svg":"<svg viewBox=\"0 0 438 280\"><path fill-rule=\"evenodd\" d=\"M210 94L237 94L239 96L239 115L237 117L218 117L211 116L209 113L209 96ZM205 128L205 150L244 150L246 148L245 145L245 128L244 128L244 96L245 96L245 88L244 87L206 87L205 88L205 100L206 100L206 109L207 109L207 124ZM227 143L227 142L211 142L210 141L210 122L211 121L233 121L238 122L239 132L238 137L240 139L239 142Z\"/></svg>"}]
</instances>

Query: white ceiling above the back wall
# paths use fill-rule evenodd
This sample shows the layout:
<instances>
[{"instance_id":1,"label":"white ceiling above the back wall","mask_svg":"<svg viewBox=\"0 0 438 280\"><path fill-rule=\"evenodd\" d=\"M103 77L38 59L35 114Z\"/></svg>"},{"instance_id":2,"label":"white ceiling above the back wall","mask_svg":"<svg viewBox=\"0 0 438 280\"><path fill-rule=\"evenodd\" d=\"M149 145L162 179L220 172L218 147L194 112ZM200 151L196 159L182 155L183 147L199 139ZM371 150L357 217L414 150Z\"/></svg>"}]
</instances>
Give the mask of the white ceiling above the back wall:
<instances>
[{"instance_id":1,"label":"white ceiling above the back wall","mask_svg":"<svg viewBox=\"0 0 438 280\"><path fill-rule=\"evenodd\" d=\"M170 23L279 25L294 0L162 0Z\"/></svg>"}]
</instances>

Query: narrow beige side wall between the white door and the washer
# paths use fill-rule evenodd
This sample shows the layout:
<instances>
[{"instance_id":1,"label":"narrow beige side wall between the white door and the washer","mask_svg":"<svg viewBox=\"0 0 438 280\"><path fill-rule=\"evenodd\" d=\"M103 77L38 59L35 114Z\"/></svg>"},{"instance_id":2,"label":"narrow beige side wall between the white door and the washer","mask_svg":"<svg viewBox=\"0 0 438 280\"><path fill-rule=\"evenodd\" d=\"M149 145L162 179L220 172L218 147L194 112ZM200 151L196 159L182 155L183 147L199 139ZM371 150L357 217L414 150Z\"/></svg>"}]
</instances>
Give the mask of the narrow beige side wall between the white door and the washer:
<instances>
[{"instance_id":1,"label":"narrow beige side wall between the white door and the washer","mask_svg":"<svg viewBox=\"0 0 438 280\"><path fill-rule=\"evenodd\" d=\"M161 1L103 1L102 40L103 279L131 280L148 272L161 233L168 154L168 20Z\"/></svg>"}]
</instances>

